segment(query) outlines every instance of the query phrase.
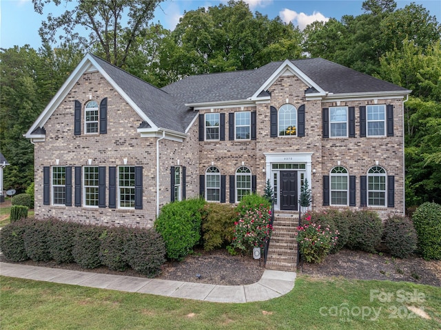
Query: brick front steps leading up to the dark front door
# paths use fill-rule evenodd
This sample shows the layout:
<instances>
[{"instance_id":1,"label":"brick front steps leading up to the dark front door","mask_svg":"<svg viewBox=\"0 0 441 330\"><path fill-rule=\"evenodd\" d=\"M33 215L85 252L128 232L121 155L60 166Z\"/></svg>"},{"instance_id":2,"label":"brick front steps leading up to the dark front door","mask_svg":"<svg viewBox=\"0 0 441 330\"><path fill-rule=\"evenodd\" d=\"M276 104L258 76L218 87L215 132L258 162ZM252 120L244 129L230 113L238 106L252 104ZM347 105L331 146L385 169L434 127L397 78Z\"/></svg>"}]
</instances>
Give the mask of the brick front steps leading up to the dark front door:
<instances>
[{"instance_id":1,"label":"brick front steps leading up to the dark front door","mask_svg":"<svg viewBox=\"0 0 441 330\"><path fill-rule=\"evenodd\" d=\"M273 232L269 242L266 269L296 271L298 212L274 212Z\"/></svg>"}]
</instances>

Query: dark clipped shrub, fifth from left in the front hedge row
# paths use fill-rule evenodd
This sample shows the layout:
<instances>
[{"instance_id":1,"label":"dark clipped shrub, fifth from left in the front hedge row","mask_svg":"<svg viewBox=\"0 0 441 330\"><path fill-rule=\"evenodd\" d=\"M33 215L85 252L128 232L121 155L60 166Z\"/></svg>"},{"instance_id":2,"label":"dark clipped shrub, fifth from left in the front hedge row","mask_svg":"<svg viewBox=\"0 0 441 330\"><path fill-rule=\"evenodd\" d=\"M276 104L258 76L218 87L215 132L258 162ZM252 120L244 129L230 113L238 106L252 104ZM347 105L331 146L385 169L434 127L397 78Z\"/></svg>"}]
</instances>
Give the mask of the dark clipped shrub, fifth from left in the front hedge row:
<instances>
[{"instance_id":1,"label":"dark clipped shrub, fifth from left in the front hedge row","mask_svg":"<svg viewBox=\"0 0 441 330\"><path fill-rule=\"evenodd\" d=\"M100 236L99 258L109 269L124 271L128 265L125 260L125 245L128 235L126 227L110 227Z\"/></svg>"}]
</instances>

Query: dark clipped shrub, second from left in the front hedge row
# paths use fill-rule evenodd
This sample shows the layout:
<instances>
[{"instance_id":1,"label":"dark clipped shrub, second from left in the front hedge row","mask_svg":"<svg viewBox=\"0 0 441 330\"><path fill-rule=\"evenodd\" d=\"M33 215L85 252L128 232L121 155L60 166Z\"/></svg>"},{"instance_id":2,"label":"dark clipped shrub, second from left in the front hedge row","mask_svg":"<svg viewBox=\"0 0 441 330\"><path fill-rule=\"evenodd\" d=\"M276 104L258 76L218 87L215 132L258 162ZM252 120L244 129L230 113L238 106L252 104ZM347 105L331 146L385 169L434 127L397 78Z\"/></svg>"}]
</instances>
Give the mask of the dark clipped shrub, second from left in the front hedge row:
<instances>
[{"instance_id":1,"label":"dark clipped shrub, second from left in the front hedge row","mask_svg":"<svg viewBox=\"0 0 441 330\"><path fill-rule=\"evenodd\" d=\"M52 259L48 246L48 234L52 222L49 220L28 220L25 222L23 240L26 254L34 261Z\"/></svg>"}]
</instances>

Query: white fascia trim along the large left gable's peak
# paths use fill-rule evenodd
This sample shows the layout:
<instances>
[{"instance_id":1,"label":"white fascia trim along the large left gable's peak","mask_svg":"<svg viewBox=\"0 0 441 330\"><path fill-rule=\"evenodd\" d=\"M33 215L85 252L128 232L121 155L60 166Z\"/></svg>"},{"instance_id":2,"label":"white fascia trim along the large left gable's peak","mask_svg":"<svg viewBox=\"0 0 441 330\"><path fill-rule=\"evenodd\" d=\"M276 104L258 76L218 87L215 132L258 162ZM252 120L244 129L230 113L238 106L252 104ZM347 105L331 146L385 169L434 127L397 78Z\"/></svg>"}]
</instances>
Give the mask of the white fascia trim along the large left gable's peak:
<instances>
[{"instance_id":1,"label":"white fascia trim along the large left gable's peak","mask_svg":"<svg viewBox=\"0 0 441 330\"><path fill-rule=\"evenodd\" d=\"M37 120L34 121L28 132L26 132L26 134L24 135L25 138L34 138L34 137L37 138L37 136L32 135L31 133L34 132L34 130L37 127L43 127L45 125L45 123L48 121L50 116L52 116L52 114L57 109L57 107L69 94L70 90L72 90L72 87L74 87L76 82L79 81L81 76L85 72L96 72L96 71L100 72L105 77L105 79L110 83L110 85L112 85L112 87L114 87L114 89L117 92L119 92L119 94L121 94L123 99L125 99L125 101L129 103L129 105L136 111L136 113L139 114L141 118L143 118L143 121L146 121L147 123L149 123L150 126L157 128L157 126L154 125L154 123L150 120L150 118L148 118L147 115L145 115L139 109L139 107L132 101L132 99L130 99L130 97L127 96L127 94L125 94L123 90L121 90L121 87L119 87L119 85L117 85L113 81L113 79L110 78L107 72L105 72L98 63L96 63L94 58L90 54L86 54L79 63L79 65L76 66L72 74L70 74L69 78L63 83L57 94L55 94L55 96L52 98L52 100L50 100L48 105L46 105L45 109L43 110L43 112L41 112Z\"/></svg>"}]
</instances>

